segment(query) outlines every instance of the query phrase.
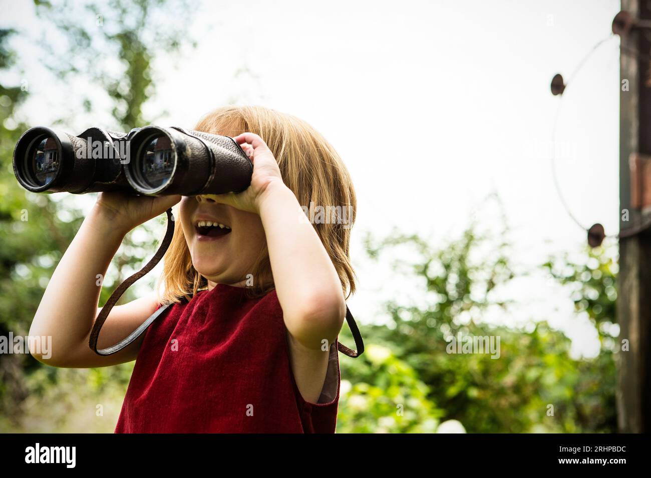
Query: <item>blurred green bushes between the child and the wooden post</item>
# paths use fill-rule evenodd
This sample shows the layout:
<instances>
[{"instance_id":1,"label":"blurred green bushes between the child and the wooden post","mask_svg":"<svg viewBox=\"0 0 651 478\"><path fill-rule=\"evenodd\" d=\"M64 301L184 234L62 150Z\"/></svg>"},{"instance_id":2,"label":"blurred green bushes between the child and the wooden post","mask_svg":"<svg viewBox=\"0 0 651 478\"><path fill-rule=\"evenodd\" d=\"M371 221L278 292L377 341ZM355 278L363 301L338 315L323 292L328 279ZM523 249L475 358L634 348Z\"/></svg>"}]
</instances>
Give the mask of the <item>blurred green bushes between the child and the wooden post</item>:
<instances>
[{"instance_id":1,"label":"blurred green bushes between the child and the wooden post","mask_svg":"<svg viewBox=\"0 0 651 478\"><path fill-rule=\"evenodd\" d=\"M489 308L506 306L492 292L514 278L509 246L497 242L474 226L439 248L416 236L368 239L368 254L378 260L398 246L411 246L417 255L410 273L421 278L421 292L431 300L426 308L389 300L391 324L363 327L367 344L387 350L385 360L395 365L387 371L390 365L372 357L362 360L364 355L342 361L342 376L355 385L342 399L340 431L420 431L396 415L398 401L405 404L406 416L430 410L438 419L461 421L468 432L615 431L613 258L598 250L589 253L586 265L564 257L542 267L572 289L577 313L587 311L600 330L600 354L576 359L570 356L570 339L546 322L510 328L481 320ZM478 256L474 252L486 251L486 246L490 252L473 260ZM398 263L404 265L404 259ZM449 347L450 339L459 334L499 337L499 358L449 353L456 350ZM398 369L409 379L391 377ZM397 391L395 400L377 393L387 388Z\"/></svg>"}]
</instances>

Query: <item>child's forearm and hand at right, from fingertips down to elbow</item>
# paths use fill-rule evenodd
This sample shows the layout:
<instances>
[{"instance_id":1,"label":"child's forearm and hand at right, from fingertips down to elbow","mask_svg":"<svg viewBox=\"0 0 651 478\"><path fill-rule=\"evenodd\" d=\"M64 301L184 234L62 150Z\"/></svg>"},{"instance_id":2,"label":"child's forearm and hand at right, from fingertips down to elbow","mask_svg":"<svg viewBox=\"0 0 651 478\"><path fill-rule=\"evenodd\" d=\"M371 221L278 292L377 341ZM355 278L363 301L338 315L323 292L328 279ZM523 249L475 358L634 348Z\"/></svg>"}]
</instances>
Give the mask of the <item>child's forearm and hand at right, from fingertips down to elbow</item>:
<instances>
[{"instance_id":1,"label":"child's forearm and hand at right, from fingertips down to elbow","mask_svg":"<svg viewBox=\"0 0 651 478\"><path fill-rule=\"evenodd\" d=\"M346 316L337 270L262 138L243 133L234 139L253 147L251 187L211 197L260 215L286 328L304 349L322 351L322 341L335 341Z\"/></svg>"}]
</instances>

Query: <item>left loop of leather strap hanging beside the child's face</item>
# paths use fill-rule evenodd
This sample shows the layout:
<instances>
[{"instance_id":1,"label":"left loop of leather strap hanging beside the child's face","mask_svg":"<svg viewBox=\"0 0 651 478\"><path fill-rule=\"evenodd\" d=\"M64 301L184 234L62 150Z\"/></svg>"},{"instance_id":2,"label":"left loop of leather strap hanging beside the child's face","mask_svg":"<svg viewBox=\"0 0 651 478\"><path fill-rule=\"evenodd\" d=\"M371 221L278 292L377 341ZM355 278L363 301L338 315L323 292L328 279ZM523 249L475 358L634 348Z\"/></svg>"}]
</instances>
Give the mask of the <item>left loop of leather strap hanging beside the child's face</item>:
<instances>
[{"instance_id":1,"label":"left loop of leather strap hanging beside the child's face","mask_svg":"<svg viewBox=\"0 0 651 478\"><path fill-rule=\"evenodd\" d=\"M158 250L156 251L156 254L154 254L154 257L150 259L148 263L146 263L145 267L140 269L140 271L136 272L132 276L128 277L122 284L118 286L115 291L111 294L111 297L109 297L109 300L106 301L106 304L104 304L104 307L102 310L100 310L99 315L97 316L97 319L95 319L95 323L92 325L92 330L90 331L90 339L88 342L88 345L90 349L95 352L98 355L111 355L115 354L115 352L120 351L124 349L127 345L132 343L140 334L145 332L145 329L158 317L164 310L167 309L167 306L161 306L156 312L154 312L141 326L139 326L137 329L135 329L129 336L120 341L119 343L112 345L111 347L108 347L107 349L97 349L97 340L100 338L100 330L102 330L102 325L104 325L104 322L106 321L106 317L109 316L109 312L111 312L111 309L113 306L115 306L115 302L122 297L122 294L124 294L124 291L128 289L133 282L137 281L139 278L145 276L147 272L151 271L156 267L156 264L159 263L159 261L163 258L163 254L165 254L165 251L167 251L167 248L169 247L170 243L172 242L172 236L174 235L174 216L172 215L172 208L170 207L165 211L167 213L167 231L165 232L165 237L163 237L163 242L159 246Z\"/></svg>"}]
</instances>

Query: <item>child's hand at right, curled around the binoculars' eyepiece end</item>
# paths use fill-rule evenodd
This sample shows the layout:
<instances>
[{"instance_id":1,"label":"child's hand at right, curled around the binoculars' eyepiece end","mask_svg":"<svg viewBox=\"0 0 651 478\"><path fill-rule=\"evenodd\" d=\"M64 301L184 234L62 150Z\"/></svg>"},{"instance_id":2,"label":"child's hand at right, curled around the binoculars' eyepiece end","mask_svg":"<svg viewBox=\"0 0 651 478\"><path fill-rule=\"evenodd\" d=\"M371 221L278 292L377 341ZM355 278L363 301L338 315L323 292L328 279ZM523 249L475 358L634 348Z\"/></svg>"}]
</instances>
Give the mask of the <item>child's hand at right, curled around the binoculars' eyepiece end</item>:
<instances>
[{"instance_id":1,"label":"child's hand at right, curled around the binoculars' eyepiece end","mask_svg":"<svg viewBox=\"0 0 651 478\"><path fill-rule=\"evenodd\" d=\"M202 194L202 196L242 211L259 214L260 202L271 189L270 186L277 183L284 185L281 170L269 146L255 133L242 133L233 139L249 155L253 163L251 185L241 193Z\"/></svg>"}]
</instances>

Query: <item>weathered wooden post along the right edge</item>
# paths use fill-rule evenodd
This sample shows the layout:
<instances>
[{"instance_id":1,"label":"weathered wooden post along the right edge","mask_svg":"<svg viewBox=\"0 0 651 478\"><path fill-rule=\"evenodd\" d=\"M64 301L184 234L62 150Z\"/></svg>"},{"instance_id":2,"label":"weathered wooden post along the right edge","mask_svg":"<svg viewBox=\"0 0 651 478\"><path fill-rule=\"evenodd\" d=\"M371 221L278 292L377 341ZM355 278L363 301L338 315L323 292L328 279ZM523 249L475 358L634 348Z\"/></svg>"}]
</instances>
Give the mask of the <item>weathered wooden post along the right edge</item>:
<instances>
[{"instance_id":1,"label":"weathered wooden post along the right edge","mask_svg":"<svg viewBox=\"0 0 651 478\"><path fill-rule=\"evenodd\" d=\"M651 20L651 6L639 0L622 0L622 10L633 18ZM628 210L628 222L620 230L651 219L631 204L630 159L636 153L651 155L651 30L621 36L620 80L620 212ZM627 53L627 51L629 53ZM641 58L630 52L639 51ZM639 193L639 191L635 191ZM617 315L620 351L617 356L617 421L620 432L651 431L651 230L619 241ZM622 341L628 340L628 351Z\"/></svg>"}]
</instances>

